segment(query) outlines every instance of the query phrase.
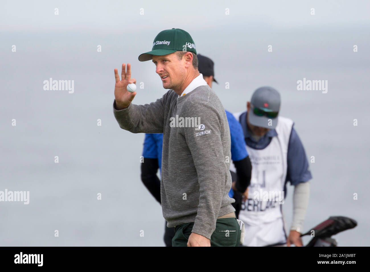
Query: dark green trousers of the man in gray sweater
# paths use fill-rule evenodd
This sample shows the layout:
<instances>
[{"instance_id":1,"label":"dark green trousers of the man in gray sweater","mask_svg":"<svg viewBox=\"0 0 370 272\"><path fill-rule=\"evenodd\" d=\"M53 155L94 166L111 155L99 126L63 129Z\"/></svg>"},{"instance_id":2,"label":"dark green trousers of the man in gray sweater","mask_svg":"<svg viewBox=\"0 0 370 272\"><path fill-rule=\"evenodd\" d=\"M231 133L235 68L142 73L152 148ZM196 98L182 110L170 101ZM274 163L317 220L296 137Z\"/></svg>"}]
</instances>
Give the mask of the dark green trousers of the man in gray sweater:
<instances>
[{"instance_id":1,"label":"dark green trousers of the man in gray sweater","mask_svg":"<svg viewBox=\"0 0 370 272\"><path fill-rule=\"evenodd\" d=\"M187 246L194 223L181 224L175 227L172 246ZM211 246L239 246L240 227L236 218L219 218L216 229L211 236Z\"/></svg>"}]
</instances>

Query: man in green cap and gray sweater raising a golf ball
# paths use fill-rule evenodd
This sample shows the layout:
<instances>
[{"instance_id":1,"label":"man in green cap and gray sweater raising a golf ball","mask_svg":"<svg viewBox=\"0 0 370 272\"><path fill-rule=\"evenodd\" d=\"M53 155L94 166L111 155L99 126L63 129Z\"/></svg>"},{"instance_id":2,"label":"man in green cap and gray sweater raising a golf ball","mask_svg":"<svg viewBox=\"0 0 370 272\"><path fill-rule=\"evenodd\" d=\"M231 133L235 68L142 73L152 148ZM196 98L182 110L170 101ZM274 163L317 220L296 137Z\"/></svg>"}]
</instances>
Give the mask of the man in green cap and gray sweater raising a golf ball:
<instances>
[{"instance_id":1,"label":"man in green cap and gray sweater raising a golf ball","mask_svg":"<svg viewBox=\"0 0 370 272\"><path fill-rule=\"evenodd\" d=\"M121 80L114 70L114 116L124 130L163 133L161 205L167 226L176 227L172 246L239 246L241 231L228 195L231 141L225 110L199 74L189 33L164 30L151 45L139 61L152 60L169 90L150 104L132 104L137 93L129 93L127 85L136 80L131 65L126 71L122 64Z\"/></svg>"}]
</instances>

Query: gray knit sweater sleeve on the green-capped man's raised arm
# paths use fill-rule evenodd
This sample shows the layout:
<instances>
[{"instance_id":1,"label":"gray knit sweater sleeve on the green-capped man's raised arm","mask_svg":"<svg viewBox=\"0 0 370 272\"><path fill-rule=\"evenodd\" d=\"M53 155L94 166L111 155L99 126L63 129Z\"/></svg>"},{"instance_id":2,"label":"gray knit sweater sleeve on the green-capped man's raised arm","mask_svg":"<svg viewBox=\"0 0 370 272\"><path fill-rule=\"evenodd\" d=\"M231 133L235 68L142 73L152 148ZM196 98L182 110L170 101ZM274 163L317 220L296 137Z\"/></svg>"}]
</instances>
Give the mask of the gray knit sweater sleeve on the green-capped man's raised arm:
<instances>
[{"instance_id":1,"label":"gray knit sweater sleeve on the green-capped man's raised arm","mask_svg":"<svg viewBox=\"0 0 370 272\"><path fill-rule=\"evenodd\" d=\"M113 114L120 128L132 133L163 133L165 104L170 91L155 102L145 105L131 103L123 110L116 109L114 100Z\"/></svg>"}]
</instances>

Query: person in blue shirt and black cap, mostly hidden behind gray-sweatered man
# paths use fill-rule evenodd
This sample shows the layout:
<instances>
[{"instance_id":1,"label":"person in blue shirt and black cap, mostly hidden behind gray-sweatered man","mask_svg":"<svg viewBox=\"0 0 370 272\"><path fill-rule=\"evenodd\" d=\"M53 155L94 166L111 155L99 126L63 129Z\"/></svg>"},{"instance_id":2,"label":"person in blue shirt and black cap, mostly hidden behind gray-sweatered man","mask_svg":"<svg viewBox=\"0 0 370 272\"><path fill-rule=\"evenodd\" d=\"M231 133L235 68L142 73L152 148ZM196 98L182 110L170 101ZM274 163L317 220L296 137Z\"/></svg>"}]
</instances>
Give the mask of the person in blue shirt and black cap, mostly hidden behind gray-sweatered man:
<instances>
[{"instance_id":1,"label":"person in blue shirt and black cap, mostly hidden behind gray-sweatered man","mask_svg":"<svg viewBox=\"0 0 370 272\"><path fill-rule=\"evenodd\" d=\"M204 80L212 88L212 82L217 81L214 78L213 61L200 54L198 57L198 70L203 75ZM226 111L228 119L230 136L231 136L231 159L235 171L231 171L232 188L229 191L229 197L234 198L232 203L238 218L239 211L242 208L242 196L248 194L248 185L250 182L252 165L245 147L244 135L242 127L232 113ZM161 188L160 180L157 177L158 168L161 171L162 161L162 142L163 134L145 134L144 148L142 156L144 163L141 164L141 180L153 197L161 203ZM227 159L227 158L226 158ZM172 246L172 238L174 237L174 228L168 228L165 224L164 242L166 246Z\"/></svg>"}]
</instances>

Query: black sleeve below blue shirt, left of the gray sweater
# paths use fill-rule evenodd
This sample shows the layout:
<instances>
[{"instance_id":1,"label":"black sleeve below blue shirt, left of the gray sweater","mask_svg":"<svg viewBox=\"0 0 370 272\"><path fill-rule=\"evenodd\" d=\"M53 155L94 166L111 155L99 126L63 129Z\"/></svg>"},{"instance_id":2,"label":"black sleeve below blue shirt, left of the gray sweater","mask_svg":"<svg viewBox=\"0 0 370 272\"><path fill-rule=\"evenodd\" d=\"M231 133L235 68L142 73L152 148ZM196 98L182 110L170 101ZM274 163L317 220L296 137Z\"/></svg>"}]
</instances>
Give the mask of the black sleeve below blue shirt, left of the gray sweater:
<instances>
[{"instance_id":1,"label":"black sleeve below blue shirt, left of the gray sweater","mask_svg":"<svg viewBox=\"0 0 370 272\"><path fill-rule=\"evenodd\" d=\"M141 181L152 196L161 203L161 181L157 176L158 159L144 158L141 164Z\"/></svg>"}]
</instances>

